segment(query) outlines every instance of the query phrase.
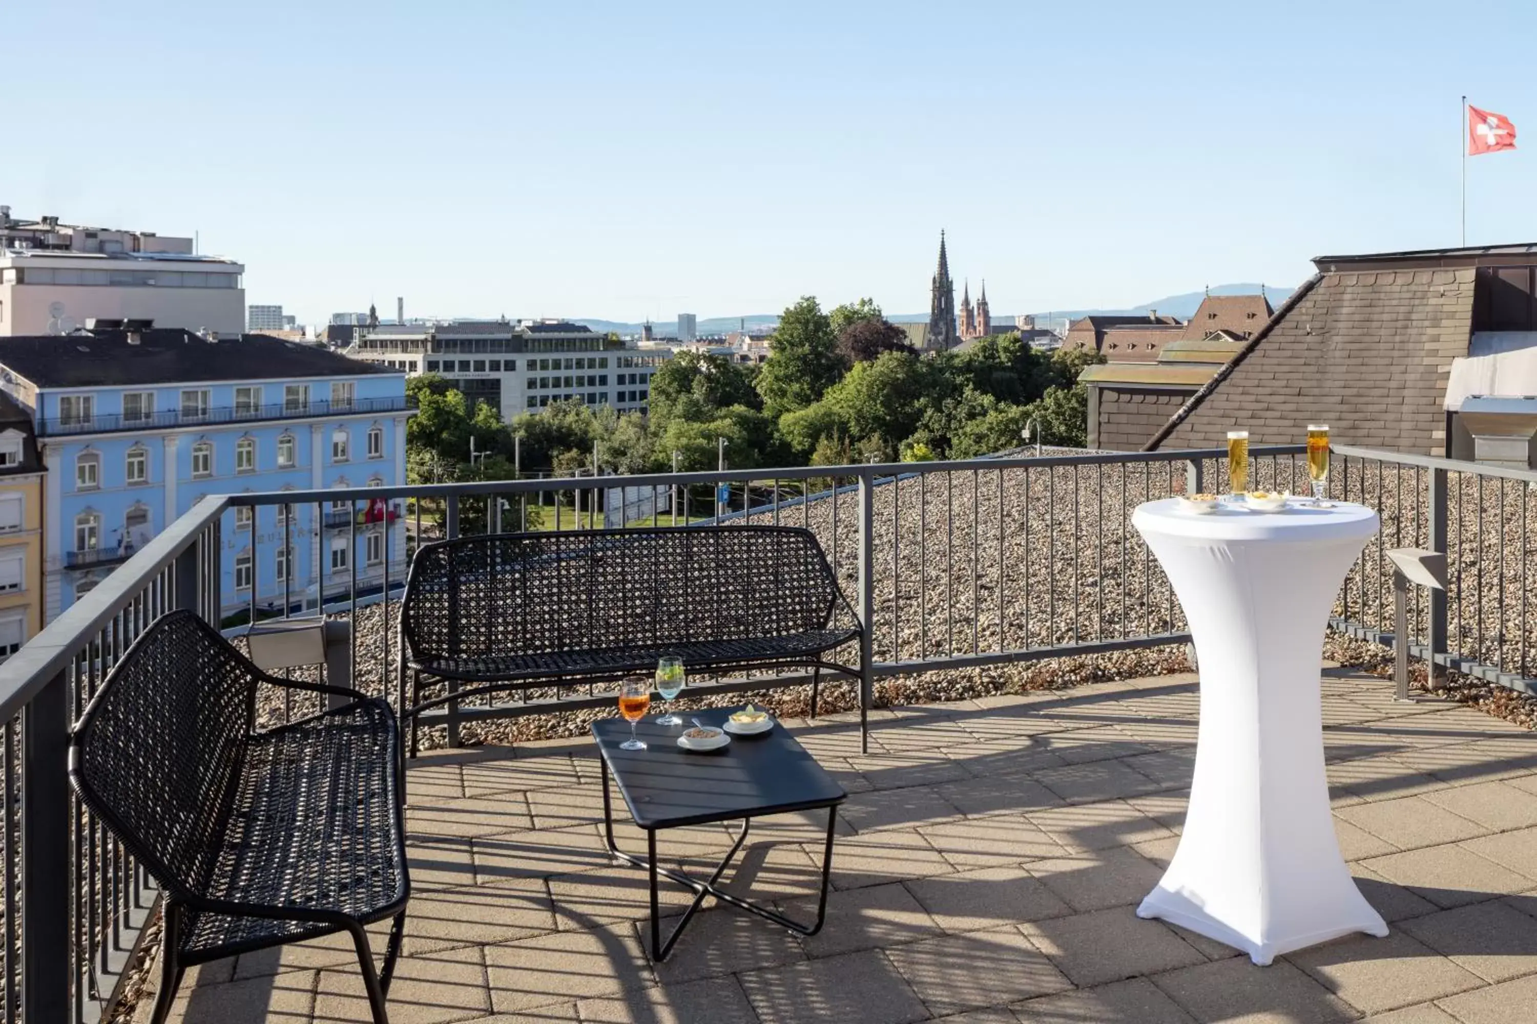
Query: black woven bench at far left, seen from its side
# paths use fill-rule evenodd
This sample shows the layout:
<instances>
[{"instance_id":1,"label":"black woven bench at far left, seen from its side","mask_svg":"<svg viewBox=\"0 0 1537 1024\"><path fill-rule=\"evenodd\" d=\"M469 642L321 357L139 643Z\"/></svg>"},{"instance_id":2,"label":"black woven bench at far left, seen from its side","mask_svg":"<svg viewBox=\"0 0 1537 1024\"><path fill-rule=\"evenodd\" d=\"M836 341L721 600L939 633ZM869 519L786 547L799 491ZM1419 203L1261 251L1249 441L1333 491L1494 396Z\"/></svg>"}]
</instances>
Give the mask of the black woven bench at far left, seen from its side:
<instances>
[{"instance_id":1,"label":"black woven bench at far left, seen from its side","mask_svg":"<svg viewBox=\"0 0 1537 1024\"><path fill-rule=\"evenodd\" d=\"M350 702L258 731L258 683ZM138 637L74 728L69 780L160 883L154 1024L186 967L343 930L386 1024L410 895L400 763L383 700L266 676L191 611ZM364 926L386 918L375 973Z\"/></svg>"}]
</instances>

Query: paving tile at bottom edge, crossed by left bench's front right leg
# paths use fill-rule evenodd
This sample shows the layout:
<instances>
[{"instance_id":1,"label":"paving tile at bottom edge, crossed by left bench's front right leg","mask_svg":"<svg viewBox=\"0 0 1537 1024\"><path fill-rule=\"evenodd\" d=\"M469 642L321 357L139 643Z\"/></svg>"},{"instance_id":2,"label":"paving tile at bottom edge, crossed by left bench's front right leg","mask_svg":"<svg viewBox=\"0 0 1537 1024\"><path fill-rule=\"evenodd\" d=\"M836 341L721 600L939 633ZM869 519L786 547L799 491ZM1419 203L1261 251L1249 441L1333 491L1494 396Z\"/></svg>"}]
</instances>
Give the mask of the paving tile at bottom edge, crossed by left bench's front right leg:
<instances>
[{"instance_id":1,"label":"paving tile at bottom edge, crossed by left bench's front right leg","mask_svg":"<svg viewBox=\"0 0 1537 1024\"><path fill-rule=\"evenodd\" d=\"M490 1013L480 946L401 956L389 989L390 1024L449 1024ZM357 964L323 970L315 989L317 1024L369 1024L369 999Z\"/></svg>"}]
</instances>

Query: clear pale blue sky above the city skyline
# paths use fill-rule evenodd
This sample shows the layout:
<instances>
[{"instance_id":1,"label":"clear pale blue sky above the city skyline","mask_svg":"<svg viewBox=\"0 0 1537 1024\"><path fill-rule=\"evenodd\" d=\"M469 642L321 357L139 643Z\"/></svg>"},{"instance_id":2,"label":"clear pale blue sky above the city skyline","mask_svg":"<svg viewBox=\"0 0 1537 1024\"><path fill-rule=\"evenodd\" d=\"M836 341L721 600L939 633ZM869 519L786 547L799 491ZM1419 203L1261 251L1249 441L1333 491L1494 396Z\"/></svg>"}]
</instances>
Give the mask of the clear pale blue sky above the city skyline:
<instances>
[{"instance_id":1,"label":"clear pale blue sky above the city skyline","mask_svg":"<svg viewBox=\"0 0 1537 1024\"><path fill-rule=\"evenodd\" d=\"M22 3L0 203L247 264L251 302L672 319L1296 284L1537 239L1537 5ZM1525 55L1525 57L1523 57Z\"/></svg>"}]
</instances>

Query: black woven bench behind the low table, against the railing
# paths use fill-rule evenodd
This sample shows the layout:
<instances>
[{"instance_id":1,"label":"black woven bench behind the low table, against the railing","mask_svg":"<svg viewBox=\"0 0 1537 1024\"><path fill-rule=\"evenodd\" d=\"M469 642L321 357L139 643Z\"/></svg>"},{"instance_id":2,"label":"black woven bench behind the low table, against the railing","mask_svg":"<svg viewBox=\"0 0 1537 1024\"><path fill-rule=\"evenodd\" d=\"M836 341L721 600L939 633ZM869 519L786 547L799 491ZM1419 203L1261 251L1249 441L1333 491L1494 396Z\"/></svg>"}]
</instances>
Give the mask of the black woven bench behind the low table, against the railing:
<instances>
[{"instance_id":1,"label":"black woven bench behind the low table, against the railing","mask_svg":"<svg viewBox=\"0 0 1537 1024\"><path fill-rule=\"evenodd\" d=\"M420 723L581 706L461 706L467 697L649 676L664 654L681 657L690 677L768 674L695 692L767 688L773 672L810 669L813 717L824 671L858 680L865 732L868 659L859 654L856 665L842 665L832 657L850 643L862 651L862 629L816 536L799 527L440 540L412 560L401 633L412 669L412 751ZM423 676L443 680L446 692L424 702ZM444 706L437 717L423 714Z\"/></svg>"}]
</instances>

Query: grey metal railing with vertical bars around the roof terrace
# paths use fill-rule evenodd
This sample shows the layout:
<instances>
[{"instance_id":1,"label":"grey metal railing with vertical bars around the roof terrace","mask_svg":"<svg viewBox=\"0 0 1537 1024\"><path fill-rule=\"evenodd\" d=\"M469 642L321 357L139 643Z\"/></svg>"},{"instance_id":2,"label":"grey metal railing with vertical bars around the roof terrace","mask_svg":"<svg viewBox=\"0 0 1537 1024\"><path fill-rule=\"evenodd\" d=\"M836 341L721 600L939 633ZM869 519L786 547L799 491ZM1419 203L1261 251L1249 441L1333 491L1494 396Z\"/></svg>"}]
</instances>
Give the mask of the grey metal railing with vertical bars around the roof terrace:
<instances>
[{"instance_id":1,"label":"grey metal railing with vertical bars around the roof terrace","mask_svg":"<svg viewBox=\"0 0 1537 1024\"><path fill-rule=\"evenodd\" d=\"M1532 533L1526 491L1537 473L1343 445L1334 453L1331 496L1365 500L1383 519L1382 536L1366 547L1340 591L1336 626L1391 640L1385 633L1393 614L1391 565L1383 550L1448 551L1445 600L1422 597L1409 619L1416 649L1446 668L1525 686L1537 662L1537 637L1525 625ZM192 608L218 622L227 613L220 593L226 542L252 551L257 565L272 563L280 545L287 559L314 559L318 585L312 586L326 613L354 623L354 685L397 708L406 702L407 680L398 611L413 550L469 533L601 527L604 491L647 499L635 502L647 510L646 519L626 525L813 530L867 626L864 643L878 679L990 669L1188 640L1179 602L1130 516L1145 500L1223 479L1223 454L1011 453L956 462L203 499L0 665L6 755L0 769L0 1021L94 1021L114 998L157 894L152 880L71 795L68 729L155 617ZM1302 454L1302 445L1254 448L1254 485L1305 491ZM344 524L298 531L295 507L309 504L324 524L338 499L352 507ZM381 500L403 514L370 520L369 510ZM290 514L277 534L258 536L257 516L234 525L235 508L254 505L287 505ZM1491 530L1491 522L1502 528ZM357 557L363 536L378 537L364 545L377 563ZM332 560L338 542L349 551L340 567ZM238 600L249 620L307 606L287 580L271 577L241 588ZM798 680L749 680L787 682ZM310 711L287 703L290 694L263 699L263 722ZM593 700L570 688L552 694L443 709L427 725L437 728L438 742L455 742L461 728L484 728L493 714L539 714Z\"/></svg>"}]
</instances>

